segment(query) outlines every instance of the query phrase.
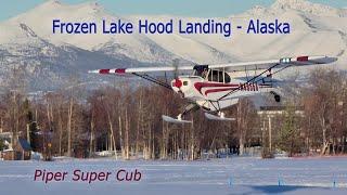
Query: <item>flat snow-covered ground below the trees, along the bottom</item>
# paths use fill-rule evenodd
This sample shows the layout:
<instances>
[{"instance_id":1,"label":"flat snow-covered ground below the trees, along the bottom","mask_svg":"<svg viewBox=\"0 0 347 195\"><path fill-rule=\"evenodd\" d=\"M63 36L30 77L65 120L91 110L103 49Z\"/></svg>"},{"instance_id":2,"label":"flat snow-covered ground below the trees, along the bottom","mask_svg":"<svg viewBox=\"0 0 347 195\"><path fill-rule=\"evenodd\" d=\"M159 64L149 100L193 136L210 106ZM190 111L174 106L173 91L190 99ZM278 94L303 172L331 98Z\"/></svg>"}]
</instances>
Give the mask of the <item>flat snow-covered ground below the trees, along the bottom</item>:
<instances>
[{"instance_id":1,"label":"flat snow-covered ground below the trees, along the bottom","mask_svg":"<svg viewBox=\"0 0 347 195\"><path fill-rule=\"evenodd\" d=\"M35 171L66 171L65 181L34 181ZM108 181L75 182L72 172L110 171ZM120 182L117 170L142 173ZM280 186L279 186L280 181ZM335 184L334 184L335 182ZM335 186L334 186L335 185ZM347 157L232 158L205 161L61 159L0 161L0 194L347 194Z\"/></svg>"}]
</instances>

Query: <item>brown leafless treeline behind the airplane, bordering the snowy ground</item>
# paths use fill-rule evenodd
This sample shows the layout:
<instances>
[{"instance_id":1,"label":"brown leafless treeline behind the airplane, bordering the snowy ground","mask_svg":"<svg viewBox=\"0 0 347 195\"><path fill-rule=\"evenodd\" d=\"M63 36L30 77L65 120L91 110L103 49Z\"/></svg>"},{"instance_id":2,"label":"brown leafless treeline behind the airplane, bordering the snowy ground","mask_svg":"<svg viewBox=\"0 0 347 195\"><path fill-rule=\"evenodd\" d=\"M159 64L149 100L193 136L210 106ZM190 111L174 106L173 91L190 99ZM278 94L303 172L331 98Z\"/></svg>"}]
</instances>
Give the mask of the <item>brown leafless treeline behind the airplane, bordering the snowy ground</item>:
<instances>
[{"instance_id":1,"label":"brown leafless treeline behind the airplane, bordering the snowy ground","mask_svg":"<svg viewBox=\"0 0 347 195\"><path fill-rule=\"evenodd\" d=\"M244 154L250 146L269 147L268 121L248 99L226 110L235 121L207 120L198 110L188 116L192 125L182 126L162 120L162 115L177 116L187 102L160 87L116 82L86 93L78 79L72 79L62 90L30 98L26 81L12 79L0 95L2 131L29 135L35 151L54 156L93 157L95 152L117 151L123 159L197 159L219 148ZM270 153L346 153L346 75L332 69L312 70L307 82L288 82L285 114L273 118ZM304 115L296 115L297 109Z\"/></svg>"}]
</instances>

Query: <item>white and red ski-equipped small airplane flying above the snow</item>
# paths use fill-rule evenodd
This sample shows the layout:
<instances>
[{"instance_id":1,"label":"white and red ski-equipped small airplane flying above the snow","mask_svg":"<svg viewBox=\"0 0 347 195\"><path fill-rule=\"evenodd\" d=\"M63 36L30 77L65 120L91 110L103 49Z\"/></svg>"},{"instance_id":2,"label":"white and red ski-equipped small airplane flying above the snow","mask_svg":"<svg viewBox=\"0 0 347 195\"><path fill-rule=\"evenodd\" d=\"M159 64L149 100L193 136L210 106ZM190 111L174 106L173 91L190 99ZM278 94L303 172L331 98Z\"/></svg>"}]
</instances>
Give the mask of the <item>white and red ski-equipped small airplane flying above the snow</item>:
<instances>
[{"instance_id":1,"label":"white and red ski-equipped small airplane flying above the snow","mask_svg":"<svg viewBox=\"0 0 347 195\"><path fill-rule=\"evenodd\" d=\"M138 67L89 70L92 74L134 75L156 84L174 90L190 103L176 118L163 115L163 119L174 123L188 123L183 117L192 110L202 108L210 120L230 121L222 109L239 102L239 99L261 94L271 94L275 102L281 101L281 91L273 84L272 76L293 66L311 66L330 64L337 61L329 56L296 56L280 60L240 62L214 65ZM150 73L192 72L191 75L175 76L167 83L150 76ZM253 77L248 73L254 73ZM237 76L244 73L246 78Z\"/></svg>"}]
</instances>

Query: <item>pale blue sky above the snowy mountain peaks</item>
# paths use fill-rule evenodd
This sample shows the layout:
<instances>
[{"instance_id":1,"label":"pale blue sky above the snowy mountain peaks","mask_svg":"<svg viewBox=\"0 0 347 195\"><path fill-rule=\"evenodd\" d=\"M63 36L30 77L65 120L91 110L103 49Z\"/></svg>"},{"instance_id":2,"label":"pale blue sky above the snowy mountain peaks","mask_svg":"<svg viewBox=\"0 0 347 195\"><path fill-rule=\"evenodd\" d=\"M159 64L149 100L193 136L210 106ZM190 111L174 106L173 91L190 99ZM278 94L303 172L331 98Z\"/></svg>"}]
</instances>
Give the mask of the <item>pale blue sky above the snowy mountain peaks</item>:
<instances>
[{"instance_id":1,"label":"pale blue sky above the snowy mountain peaks","mask_svg":"<svg viewBox=\"0 0 347 195\"><path fill-rule=\"evenodd\" d=\"M80 3L86 0L61 0L64 3ZM335 8L347 8L347 0L310 0ZM44 0L2 0L0 21L4 21ZM94 2L94 1L92 1ZM270 5L274 0L98 0L111 13L127 14L170 14L184 16L226 16L241 13L256 4Z\"/></svg>"}]
</instances>

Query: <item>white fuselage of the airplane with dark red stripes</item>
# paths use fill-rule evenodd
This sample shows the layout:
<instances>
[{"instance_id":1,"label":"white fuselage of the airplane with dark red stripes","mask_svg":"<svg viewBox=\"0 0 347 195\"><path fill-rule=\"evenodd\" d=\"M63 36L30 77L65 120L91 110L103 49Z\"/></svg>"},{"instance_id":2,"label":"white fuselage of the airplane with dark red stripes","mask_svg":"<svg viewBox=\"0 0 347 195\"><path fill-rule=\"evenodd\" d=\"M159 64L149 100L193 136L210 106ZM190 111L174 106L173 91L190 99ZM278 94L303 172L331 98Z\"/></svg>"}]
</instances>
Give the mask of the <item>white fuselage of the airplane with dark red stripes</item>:
<instances>
[{"instance_id":1,"label":"white fuselage of the airplane with dark red stripes","mask_svg":"<svg viewBox=\"0 0 347 195\"><path fill-rule=\"evenodd\" d=\"M179 76L170 83L172 90L183 99L210 112L232 106L239 102L240 98L277 91L271 84L245 83L244 80L235 78L228 79L228 82L226 82L226 79L220 79L219 82L210 81L201 76Z\"/></svg>"}]
</instances>

